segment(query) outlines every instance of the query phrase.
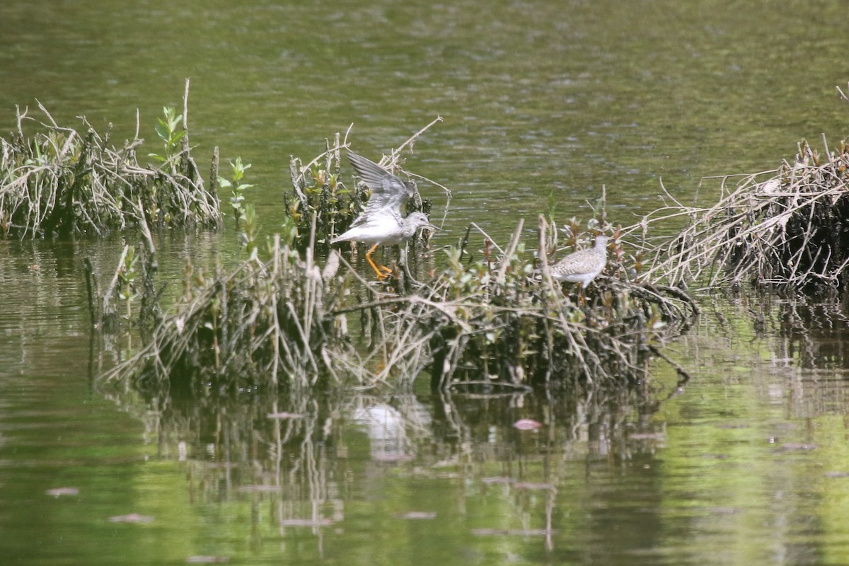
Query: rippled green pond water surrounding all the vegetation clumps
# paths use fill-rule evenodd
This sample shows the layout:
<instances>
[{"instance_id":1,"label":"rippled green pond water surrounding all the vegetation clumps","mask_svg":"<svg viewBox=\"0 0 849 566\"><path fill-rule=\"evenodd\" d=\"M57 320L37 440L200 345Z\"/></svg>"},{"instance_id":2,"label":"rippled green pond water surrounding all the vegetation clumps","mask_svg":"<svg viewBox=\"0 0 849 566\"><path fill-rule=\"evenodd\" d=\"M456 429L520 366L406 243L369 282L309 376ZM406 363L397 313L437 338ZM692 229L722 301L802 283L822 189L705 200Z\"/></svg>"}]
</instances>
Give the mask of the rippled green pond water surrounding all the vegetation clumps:
<instances>
[{"instance_id":1,"label":"rippled green pond water surrounding all the vegetation clumps","mask_svg":"<svg viewBox=\"0 0 849 566\"><path fill-rule=\"evenodd\" d=\"M773 168L803 137L835 146L845 19L836 1L6 0L0 132L15 104L46 120L39 101L61 125L114 124L115 140L138 109L153 144L190 77L196 159L218 145L253 164L271 233L291 154L353 123L352 147L376 158L441 115L408 158L453 191L434 244L469 221L506 240L549 195L559 218L586 219L604 185L632 223L661 205L661 179L692 199L702 177ZM106 271L120 249L120 235L0 242L4 564L849 563L839 305L717 300L670 345L693 380L669 396L678 378L655 367L669 398L654 411L349 391L276 407L305 415L290 423L250 392L152 412L93 388L132 345L90 356L81 258ZM238 249L228 225L160 254L177 292L187 258ZM755 333L760 308L779 322ZM516 430L521 417L544 426ZM62 487L78 493L46 494ZM110 520L131 513L153 520Z\"/></svg>"}]
</instances>

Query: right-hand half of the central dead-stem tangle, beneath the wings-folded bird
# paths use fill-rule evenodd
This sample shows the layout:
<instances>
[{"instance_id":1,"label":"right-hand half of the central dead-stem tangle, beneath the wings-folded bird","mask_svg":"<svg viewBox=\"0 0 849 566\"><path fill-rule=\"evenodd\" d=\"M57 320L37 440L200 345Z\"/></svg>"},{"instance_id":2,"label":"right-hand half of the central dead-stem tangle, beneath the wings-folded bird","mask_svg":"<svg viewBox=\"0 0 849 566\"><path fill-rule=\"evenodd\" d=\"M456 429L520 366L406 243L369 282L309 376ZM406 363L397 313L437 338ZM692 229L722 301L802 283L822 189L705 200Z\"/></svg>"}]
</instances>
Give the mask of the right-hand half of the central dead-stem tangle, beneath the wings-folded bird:
<instances>
[{"instance_id":1,"label":"right-hand half of the central dead-stem tangle, beneath the wings-folded bird","mask_svg":"<svg viewBox=\"0 0 849 566\"><path fill-rule=\"evenodd\" d=\"M677 289L617 277L629 269L621 243L611 275L593 282L580 305L568 283L550 277L547 261L535 268L521 231L520 223L505 248L485 236L480 259L469 254L467 234L447 249L445 271L396 301L374 350L382 356L378 378L415 378L429 368L431 388L441 390L634 384L649 359L663 357L657 346L698 312ZM555 233L541 217L539 249Z\"/></svg>"}]
</instances>

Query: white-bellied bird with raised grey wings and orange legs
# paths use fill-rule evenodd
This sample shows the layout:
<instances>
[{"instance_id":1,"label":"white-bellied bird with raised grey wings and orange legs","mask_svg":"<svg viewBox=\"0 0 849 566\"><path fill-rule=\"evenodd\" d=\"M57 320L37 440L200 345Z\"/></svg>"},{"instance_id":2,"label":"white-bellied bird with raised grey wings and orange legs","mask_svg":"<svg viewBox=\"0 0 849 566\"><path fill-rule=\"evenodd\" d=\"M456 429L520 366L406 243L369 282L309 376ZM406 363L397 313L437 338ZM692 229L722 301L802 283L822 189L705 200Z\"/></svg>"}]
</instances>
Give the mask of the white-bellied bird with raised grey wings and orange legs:
<instances>
[{"instance_id":1,"label":"white-bellied bird with raised grey wings and orange legs","mask_svg":"<svg viewBox=\"0 0 849 566\"><path fill-rule=\"evenodd\" d=\"M401 244L412 238L419 230L438 230L430 223L428 217L422 212L413 212L406 218L401 216L401 210L412 197L416 188L412 182L402 181L398 177L386 171L372 160L367 160L362 155L348 152L348 160L357 171L357 175L371 189L371 197L368 199L363 214L351 222L351 227L346 233L330 240L330 244L336 242L363 242L372 244L366 252L366 260L372 266L377 278L382 280L391 269L386 266L374 265L371 259L372 252L380 244ZM383 271L381 271L383 270Z\"/></svg>"}]
</instances>

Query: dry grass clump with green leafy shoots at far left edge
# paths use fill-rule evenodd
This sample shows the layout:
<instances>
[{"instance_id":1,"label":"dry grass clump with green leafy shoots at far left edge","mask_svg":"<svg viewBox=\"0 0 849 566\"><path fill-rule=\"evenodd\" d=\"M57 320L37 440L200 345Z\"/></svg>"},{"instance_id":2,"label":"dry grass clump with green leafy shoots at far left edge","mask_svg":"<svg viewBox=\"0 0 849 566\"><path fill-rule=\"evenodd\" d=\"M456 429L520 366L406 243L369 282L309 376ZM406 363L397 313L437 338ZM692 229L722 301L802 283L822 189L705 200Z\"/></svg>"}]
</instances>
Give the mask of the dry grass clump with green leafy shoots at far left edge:
<instances>
[{"instance_id":1,"label":"dry grass clump with green leafy shoots at far left edge","mask_svg":"<svg viewBox=\"0 0 849 566\"><path fill-rule=\"evenodd\" d=\"M39 109L42 132L25 136L23 123L36 120L19 109L17 131L0 138L0 236L101 235L142 219L152 227L221 221L216 194L205 188L189 151L185 109L166 109L160 120L164 149L151 155L159 167L139 163L138 131L115 148L109 130L98 133L85 118L82 130L59 126Z\"/></svg>"}]
</instances>

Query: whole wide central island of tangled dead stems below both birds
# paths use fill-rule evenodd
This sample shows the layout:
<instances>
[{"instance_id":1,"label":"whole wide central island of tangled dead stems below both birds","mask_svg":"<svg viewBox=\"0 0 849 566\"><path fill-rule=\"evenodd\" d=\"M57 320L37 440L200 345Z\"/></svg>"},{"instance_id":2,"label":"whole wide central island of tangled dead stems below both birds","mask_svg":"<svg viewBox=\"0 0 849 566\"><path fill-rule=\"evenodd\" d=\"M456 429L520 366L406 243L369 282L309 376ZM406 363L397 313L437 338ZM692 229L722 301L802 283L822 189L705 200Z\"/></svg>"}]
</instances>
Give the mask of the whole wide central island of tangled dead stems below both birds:
<instances>
[{"instance_id":1,"label":"whole wide central island of tangled dead stems below both birds","mask_svg":"<svg viewBox=\"0 0 849 566\"><path fill-rule=\"evenodd\" d=\"M351 383L408 389L428 372L439 390L622 386L645 378L650 359L666 358L659 346L697 312L675 289L615 276L599 278L579 306L544 262L535 270L521 228L504 248L486 238L491 253L480 259L467 234L447 249L444 271L402 294L364 282L340 255L320 268L312 248L301 255L275 238L269 261L192 274L149 343L107 378L206 393ZM541 249L551 232L541 219ZM625 271L619 261L609 266Z\"/></svg>"}]
</instances>

